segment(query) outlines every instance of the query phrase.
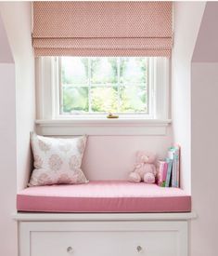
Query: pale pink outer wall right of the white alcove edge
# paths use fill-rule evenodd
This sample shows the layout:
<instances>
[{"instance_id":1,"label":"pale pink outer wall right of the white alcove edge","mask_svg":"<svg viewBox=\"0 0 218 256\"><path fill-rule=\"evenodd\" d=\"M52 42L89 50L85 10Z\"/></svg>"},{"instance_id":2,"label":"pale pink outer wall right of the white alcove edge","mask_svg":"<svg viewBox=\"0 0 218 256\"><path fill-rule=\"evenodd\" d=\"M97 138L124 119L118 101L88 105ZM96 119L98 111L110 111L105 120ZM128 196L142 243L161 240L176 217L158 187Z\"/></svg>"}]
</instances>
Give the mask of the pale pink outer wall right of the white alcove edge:
<instances>
[{"instance_id":1,"label":"pale pink outer wall right of the white alcove edge","mask_svg":"<svg viewBox=\"0 0 218 256\"><path fill-rule=\"evenodd\" d=\"M191 222L191 255L217 255L218 194L218 3L206 5L192 59L192 198L198 219Z\"/></svg>"}]
</instances>

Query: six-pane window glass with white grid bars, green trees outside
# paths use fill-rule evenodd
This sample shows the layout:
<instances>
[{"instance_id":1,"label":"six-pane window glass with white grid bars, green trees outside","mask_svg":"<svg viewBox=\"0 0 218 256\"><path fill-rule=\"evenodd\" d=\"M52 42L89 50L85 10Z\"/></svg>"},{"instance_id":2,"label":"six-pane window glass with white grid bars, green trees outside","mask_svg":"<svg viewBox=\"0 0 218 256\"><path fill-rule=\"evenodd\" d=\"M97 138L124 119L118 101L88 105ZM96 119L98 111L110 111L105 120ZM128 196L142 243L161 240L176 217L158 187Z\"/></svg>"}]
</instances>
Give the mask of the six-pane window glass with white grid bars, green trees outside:
<instances>
[{"instance_id":1,"label":"six-pane window glass with white grid bars, green trees outside","mask_svg":"<svg viewBox=\"0 0 218 256\"><path fill-rule=\"evenodd\" d=\"M145 57L59 58L59 115L149 115Z\"/></svg>"}]
</instances>

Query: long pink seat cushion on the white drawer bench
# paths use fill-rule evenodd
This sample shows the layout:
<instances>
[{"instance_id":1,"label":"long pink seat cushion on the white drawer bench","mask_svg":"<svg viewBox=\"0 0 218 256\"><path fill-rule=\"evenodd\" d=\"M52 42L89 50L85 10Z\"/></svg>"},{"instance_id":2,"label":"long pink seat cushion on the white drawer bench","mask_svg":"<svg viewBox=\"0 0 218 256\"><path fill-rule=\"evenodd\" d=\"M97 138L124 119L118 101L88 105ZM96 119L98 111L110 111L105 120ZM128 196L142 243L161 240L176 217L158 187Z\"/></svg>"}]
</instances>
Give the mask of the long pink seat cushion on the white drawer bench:
<instances>
[{"instance_id":1,"label":"long pink seat cushion on the white drawer bench","mask_svg":"<svg viewBox=\"0 0 218 256\"><path fill-rule=\"evenodd\" d=\"M179 188L131 182L29 187L17 195L19 211L186 212L191 197Z\"/></svg>"}]
</instances>

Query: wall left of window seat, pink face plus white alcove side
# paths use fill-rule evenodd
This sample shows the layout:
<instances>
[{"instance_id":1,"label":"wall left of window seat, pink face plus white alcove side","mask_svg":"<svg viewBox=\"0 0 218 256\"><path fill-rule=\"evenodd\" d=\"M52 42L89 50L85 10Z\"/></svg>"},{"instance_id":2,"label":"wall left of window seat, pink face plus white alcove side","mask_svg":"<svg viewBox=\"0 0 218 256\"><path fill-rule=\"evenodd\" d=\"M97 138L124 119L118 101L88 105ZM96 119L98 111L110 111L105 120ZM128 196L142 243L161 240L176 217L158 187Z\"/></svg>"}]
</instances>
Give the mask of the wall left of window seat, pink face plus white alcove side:
<instances>
[{"instance_id":1,"label":"wall left of window seat, pink face plus white alcove side","mask_svg":"<svg viewBox=\"0 0 218 256\"><path fill-rule=\"evenodd\" d=\"M34 120L31 4L0 2L0 17L0 255L16 256L17 223L11 214L16 210L16 182L22 188L30 171Z\"/></svg>"}]
</instances>

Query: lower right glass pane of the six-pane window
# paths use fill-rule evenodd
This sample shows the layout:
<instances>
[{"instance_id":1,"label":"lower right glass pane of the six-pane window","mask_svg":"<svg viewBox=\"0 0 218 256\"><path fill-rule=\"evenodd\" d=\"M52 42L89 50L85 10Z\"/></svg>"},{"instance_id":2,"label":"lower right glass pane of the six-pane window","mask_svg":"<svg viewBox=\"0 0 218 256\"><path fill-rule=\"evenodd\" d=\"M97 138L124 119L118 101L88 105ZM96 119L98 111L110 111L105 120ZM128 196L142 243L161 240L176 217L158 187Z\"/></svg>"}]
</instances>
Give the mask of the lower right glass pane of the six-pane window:
<instances>
[{"instance_id":1,"label":"lower right glass pane of the six-pane window","mask_svg":"<svg viewBox=\"0 0 218 256\"><path fill-rule=\"evenodd\" d=\"M145 87L121 87L121 112L147 113L147 92Z\"/></svg>"}]
</instances>

